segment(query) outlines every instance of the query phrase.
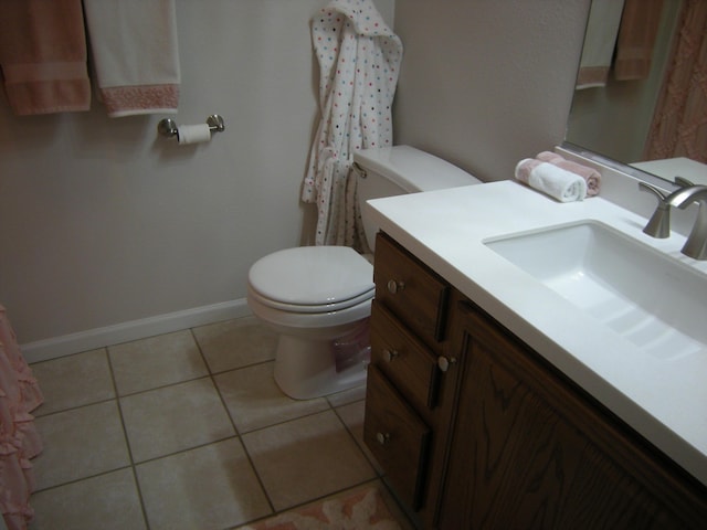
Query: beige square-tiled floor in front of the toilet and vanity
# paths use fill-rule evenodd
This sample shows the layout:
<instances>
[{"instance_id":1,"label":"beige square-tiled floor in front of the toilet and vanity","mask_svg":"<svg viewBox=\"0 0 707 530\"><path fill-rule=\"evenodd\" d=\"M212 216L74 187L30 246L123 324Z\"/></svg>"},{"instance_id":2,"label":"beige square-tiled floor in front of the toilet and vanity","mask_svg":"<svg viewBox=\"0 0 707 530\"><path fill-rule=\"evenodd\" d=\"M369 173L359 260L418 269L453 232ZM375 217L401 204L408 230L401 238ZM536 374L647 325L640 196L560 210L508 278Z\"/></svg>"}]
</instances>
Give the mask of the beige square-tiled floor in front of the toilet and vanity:
<instances>
[{"instance_id":1,"label":"beige square-tiled floor in front of the toilet and vanity","mask_svg":"<svg viewBox=\"0 0 707 530\"><path fill-rule=\"evenodd\" d=\"M30 529L232 529L372 484L395 510L361 439L363 388L291 400L275 343L246 317L32 364Z\"/></svg>"}]
</instances>

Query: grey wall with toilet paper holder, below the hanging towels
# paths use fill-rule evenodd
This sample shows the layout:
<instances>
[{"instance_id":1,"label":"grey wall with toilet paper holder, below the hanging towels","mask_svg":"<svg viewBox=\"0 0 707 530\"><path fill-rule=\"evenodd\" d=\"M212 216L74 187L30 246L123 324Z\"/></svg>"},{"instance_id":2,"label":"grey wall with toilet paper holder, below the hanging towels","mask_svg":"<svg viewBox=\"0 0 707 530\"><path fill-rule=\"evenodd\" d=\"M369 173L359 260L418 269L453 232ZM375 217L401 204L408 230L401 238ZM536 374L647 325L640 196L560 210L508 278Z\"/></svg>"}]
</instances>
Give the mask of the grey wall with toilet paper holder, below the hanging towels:
<instances>
[{"instance_id":1,"label":"grey wall with toilet paper holder, below the hanging towels","mask_svg":"<svg viewBox=\"0 0 707 530\"><path fill-rule=\"evenodd\" d=\"M391 22L393 2L377 0ZM208 145L158 137L163 116L109 119L94 100L14 117L0 96L0 304L28 357L165 331L194 308L243 311L251 264L308 241L309 20L327 3L177 0L175 119L221 114L226 130ZM186 320L160 317L176 311Z\"/></svg>"}]
</instances>

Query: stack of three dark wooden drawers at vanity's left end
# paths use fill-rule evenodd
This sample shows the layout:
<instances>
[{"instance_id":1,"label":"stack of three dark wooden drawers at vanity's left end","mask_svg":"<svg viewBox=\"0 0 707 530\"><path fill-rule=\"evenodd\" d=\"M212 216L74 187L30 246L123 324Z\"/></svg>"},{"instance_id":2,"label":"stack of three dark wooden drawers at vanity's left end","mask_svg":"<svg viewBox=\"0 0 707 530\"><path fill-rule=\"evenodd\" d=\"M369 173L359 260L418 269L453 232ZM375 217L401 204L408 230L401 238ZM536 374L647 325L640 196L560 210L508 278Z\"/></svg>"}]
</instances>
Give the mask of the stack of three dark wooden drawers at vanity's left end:
<instances>
[{"instance_id":1,"label":"stack of three dark wooden drawers at vanity's left end","mask_svg":"<svg viewBox=\"0 0 707 530\"><path fill-rule=\"evenodd\" d=\"M453 289L384 234L373 271L363 439L400 499L430 527L458 373L446 356Z\"/></svg>"}]
</instances>

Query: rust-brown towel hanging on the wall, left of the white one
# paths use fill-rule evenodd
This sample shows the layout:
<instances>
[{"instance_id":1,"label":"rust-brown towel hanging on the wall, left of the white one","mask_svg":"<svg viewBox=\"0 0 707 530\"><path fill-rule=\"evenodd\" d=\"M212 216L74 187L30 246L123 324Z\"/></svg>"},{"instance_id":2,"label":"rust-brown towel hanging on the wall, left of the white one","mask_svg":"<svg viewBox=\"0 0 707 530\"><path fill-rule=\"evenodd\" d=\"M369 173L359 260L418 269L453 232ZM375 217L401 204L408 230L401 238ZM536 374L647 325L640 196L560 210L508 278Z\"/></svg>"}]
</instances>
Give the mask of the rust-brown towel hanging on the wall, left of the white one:
<instances>
[{"instance_id":1,"label":"rust-brown towel hanging on the wall, left of the white one","mask_svg":"<svg viewBox=\"0 0 707 530\"><path fill-rule=\"evenodd\" d=\"M88 110L81 0L1 2L0 67L18 116Z\"/></svg>"}]
</instances>

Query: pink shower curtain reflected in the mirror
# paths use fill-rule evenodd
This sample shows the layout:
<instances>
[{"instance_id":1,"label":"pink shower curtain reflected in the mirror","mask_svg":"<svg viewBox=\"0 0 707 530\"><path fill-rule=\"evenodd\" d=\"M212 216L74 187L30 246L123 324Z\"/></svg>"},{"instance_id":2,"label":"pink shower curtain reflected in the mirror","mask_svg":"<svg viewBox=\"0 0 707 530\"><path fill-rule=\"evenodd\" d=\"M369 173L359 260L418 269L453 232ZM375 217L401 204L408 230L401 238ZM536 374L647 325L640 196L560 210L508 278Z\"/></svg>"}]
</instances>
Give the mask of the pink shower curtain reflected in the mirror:
<instances>
[{"instance_id":1,"label":"pink shower curtain reflected in the mirror","mask_svg":"<svg viewBox=\"0 0 707 530\"><path fill-rule=\"evenodd\" d=\"M686 0L679 35L656 106L645 160L707 163L707 2Z\"/></svg>"}]
</instances>

